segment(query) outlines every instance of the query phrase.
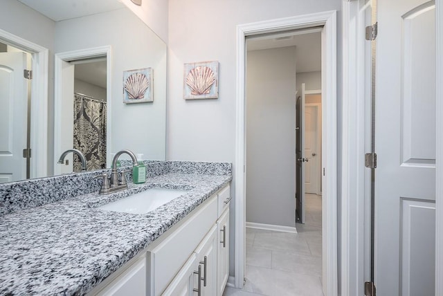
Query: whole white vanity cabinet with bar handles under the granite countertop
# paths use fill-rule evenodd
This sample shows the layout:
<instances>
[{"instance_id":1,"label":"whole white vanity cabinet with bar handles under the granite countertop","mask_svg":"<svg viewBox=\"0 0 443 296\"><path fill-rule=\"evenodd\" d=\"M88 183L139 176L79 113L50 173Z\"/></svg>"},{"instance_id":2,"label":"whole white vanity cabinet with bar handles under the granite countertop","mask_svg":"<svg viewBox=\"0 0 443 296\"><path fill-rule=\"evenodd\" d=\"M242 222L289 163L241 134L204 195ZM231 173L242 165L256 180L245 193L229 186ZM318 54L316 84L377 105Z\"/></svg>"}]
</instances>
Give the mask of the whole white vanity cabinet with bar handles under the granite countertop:
<instances>
[{"instance_id":1,"label":"whole white vanity cabinet with bar handles under the granite countertop","mask_svg":"<svg viewBox=\"0 0 443 296\"><path fill-rule=\"evenodd\" d=\"M229 195L227 185L88 295L221 296L229 272Z\"/></svg>"}]
</instances>

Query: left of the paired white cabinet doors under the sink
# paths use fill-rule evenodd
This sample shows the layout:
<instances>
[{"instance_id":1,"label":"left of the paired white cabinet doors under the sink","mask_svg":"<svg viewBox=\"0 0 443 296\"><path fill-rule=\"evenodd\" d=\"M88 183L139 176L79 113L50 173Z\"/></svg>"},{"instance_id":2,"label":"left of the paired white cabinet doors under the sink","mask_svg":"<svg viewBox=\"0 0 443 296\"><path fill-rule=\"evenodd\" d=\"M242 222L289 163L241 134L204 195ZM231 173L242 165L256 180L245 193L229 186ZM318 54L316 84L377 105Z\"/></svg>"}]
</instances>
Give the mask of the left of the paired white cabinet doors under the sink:
<instances>
[{"instance_id":1,"label":"left of the paired white cabinet doors under the sink","mask_svg":"<svg viewBox=\"0 0 443 296\"><path fill-rule=\"evenodd\" d=\"M186 261L185 265L181 268L177 276L174 277L171 284L166 288L162 295L192 296L194 288L197 288L197 286L195 286L198 278L198 275L195 274L198 270L197 266L197 256L195 253L192 253L188 261Z\"/></svg>"}]
</instances>

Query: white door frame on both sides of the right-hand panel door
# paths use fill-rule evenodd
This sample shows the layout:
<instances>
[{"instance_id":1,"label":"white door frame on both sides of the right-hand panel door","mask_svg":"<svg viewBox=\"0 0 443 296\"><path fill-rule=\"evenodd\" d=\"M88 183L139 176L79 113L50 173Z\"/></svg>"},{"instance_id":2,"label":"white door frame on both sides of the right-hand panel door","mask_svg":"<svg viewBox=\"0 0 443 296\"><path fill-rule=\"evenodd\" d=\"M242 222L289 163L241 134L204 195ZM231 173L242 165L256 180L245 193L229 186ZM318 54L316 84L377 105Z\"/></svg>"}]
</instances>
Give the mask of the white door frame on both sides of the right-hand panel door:
<instances>
[{"instance_id":1,"label":"white door frame on both sides of the right-hand panel door","mask_svg":"<svg viewBox=\"0 0 443 296\"><path fill-rule=\"evenodd\" d=\"M368 178L364 157L365 133L365 15L364 1L343 1L343 104L342 104L342 194L341 194L341 293L363 295L368 275L365 254L367 230L365 196ZM436 81L443 80L443 1L435 1ZM356 100L361 98L361 100ZM435 192L435 295L443 293L443 85L436 85L436 192ZM362 136L365 135L365 136ZM366 232L366 233L365 233Z\"/></svg>"}]
</instances>

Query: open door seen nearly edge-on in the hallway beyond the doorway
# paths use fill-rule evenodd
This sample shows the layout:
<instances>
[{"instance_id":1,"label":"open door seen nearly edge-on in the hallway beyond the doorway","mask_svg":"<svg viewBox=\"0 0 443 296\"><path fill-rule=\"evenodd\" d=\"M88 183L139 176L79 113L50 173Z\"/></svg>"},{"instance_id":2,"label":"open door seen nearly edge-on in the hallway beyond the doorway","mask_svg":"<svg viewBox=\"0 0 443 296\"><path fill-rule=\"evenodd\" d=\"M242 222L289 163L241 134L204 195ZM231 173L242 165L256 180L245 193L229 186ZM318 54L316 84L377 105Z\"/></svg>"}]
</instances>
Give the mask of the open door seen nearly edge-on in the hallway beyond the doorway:
<instances>
[{"instance_id":1,"label":"open door seen nearly edge-on in the hallway beyond the doorway","mask_svg":"<svg viewBox=\"0 0 443 296\"><path fill-rule=\"evenodd\" d=\"M305 223L305 84L296 102L296 211L300 223Z\"/></svg>"}]
</instances>

